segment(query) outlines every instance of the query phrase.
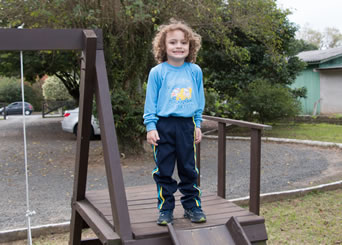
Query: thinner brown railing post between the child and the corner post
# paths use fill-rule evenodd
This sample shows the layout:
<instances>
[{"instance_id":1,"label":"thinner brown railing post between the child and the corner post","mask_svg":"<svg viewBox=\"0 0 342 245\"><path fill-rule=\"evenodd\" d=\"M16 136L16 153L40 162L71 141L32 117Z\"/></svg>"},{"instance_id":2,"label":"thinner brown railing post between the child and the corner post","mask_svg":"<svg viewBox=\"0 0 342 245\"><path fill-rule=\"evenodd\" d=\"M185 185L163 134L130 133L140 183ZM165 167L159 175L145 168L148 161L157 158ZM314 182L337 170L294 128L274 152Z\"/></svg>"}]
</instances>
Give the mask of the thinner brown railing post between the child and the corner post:
<instances>
[{"instance_id":1,"label":"thinner brown railing post between the child and the corner post","mask_svg":"<svg viewBox=\"0 0 342 245\"><path fill-rule=\"evenodd\" d=\"M217 195L226 198L226 123L218 123Z\"/></svg>"}]
</instances>

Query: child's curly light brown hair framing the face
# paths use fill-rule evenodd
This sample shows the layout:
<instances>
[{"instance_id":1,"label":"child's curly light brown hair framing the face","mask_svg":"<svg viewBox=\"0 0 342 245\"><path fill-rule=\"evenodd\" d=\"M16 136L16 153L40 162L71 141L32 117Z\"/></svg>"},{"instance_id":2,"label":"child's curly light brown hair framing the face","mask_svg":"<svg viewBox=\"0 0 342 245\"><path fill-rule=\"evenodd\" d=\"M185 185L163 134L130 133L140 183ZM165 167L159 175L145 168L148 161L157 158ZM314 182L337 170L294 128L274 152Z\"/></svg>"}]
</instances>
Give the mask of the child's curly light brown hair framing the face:
<instances>
[{"instance_id":1,"label":"child's curly light brown hair framing the face","mask_svg":"<svg viewBox=\"0 0 342 245\"><path fill-rule=\"evenodd\" d=\"M182 31L185 39L189 41L189 55L185 58L185 62L196 62L197 53L201 48L201 36L194 32L185 22L171 19L169 24L159 27L152 42L154 59L158 64L167 61L166 34L176 30Z\"/></svg>"}]
</instances>

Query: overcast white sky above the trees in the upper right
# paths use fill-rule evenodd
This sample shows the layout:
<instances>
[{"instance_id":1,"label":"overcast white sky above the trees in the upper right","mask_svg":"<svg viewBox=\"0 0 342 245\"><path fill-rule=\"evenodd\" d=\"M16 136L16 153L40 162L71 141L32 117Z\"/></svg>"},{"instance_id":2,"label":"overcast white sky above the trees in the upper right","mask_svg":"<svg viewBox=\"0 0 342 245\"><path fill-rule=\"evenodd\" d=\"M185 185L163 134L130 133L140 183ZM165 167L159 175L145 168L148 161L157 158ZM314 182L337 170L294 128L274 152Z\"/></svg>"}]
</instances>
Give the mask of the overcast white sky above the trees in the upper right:
<instances>
[{"instance_id":1,"label":"overcast white sky above the trees in the upper right","mask_svg":"<svg viewBox=\"0 0 342 245\"><path fill-rule=\"evenodd\" d=\"M280 8L292 11L288 18L301 27L324 31L335 27L342 33L342 0L277 0Z\"/></svg>"}]
</instances>

